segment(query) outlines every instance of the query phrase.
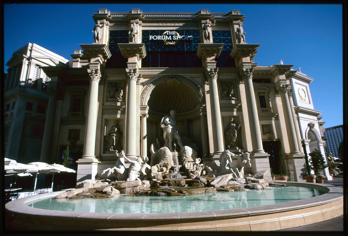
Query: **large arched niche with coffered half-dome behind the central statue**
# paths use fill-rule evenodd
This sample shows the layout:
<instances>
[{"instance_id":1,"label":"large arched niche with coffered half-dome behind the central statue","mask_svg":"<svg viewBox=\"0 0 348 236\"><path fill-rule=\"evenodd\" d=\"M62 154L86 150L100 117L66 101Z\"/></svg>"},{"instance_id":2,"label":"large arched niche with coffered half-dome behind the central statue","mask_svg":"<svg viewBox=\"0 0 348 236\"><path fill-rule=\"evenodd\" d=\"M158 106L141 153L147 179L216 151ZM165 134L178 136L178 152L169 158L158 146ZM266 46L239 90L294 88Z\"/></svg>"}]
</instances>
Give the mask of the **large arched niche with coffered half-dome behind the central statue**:
<instances>
[{"instance_id":1,"label":"large arched niche with coffered half-dome behind the central statue","mask_svg":"<svg viewBox=\"0 0 348 236\"><path fill-rule=\"evenodd\" d=\"M201 152L200 108L204 98L196 81L177 75L155 78L144 88L140 103L148 108L148 156L151 143L163 142L160 122L164 116L169 116L171 110L176 111L176 129L183 145L194 143Z\"/></svg>"}]
</instances>

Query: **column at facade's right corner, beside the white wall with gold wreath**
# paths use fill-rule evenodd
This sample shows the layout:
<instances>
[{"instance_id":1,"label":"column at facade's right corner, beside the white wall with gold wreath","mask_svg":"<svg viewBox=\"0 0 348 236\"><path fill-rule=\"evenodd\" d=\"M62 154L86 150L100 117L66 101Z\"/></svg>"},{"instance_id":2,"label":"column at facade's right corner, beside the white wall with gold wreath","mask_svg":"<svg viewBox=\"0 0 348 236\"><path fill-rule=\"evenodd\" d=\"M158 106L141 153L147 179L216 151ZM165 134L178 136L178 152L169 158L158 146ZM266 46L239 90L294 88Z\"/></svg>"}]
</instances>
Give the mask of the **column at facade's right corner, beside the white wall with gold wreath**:
<instances>
[{"instance_id":1,"label":"column at facade's right corner, beside the white wall with gold wreath","mask_svg":"<svg viewBox=\"0 0 348 236\"><path fill-rule=\"evenodd\" d=\"M280 86L281 90L281 98L282 98L282 103L285 105L284 108L284 117L285 117L285 122L288 125L287 133L290 134L288 135L289 139L289 145L290 145L290 153L291 154L300 154L299 151L299 146L297 142L297 137L295 133L295 125L292 119L292 112L291 112L291 107L290 107L290 102L289 102L289 96L288 92L291 92L290 89L288 89L288 85L282 85Z\"/></svg>"}]
</instances>

